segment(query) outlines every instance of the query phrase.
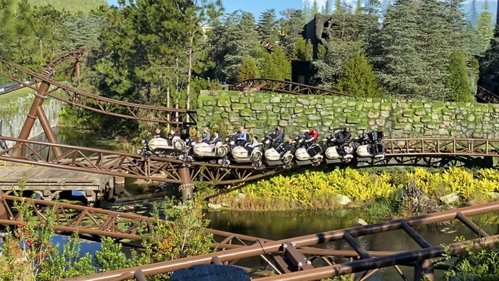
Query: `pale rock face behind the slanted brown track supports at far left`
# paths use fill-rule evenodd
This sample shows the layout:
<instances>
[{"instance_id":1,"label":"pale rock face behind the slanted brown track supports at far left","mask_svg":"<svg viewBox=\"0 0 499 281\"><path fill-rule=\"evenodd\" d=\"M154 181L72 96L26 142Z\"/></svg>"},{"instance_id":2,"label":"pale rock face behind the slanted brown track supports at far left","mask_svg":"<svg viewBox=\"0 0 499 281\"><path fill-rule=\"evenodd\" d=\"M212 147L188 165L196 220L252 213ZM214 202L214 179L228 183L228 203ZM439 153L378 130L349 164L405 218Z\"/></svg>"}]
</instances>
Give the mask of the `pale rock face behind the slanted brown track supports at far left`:
<instances>
[{"instance_id":1,"label":"pale rock face behind the slanted brown track supports at far left","mask_svg":"<svg viewBox=\"0 0 499 281\"><path fill-rule=\"evenodd\" d=\"M21 128L26 121L29 108L31 108L31 103L35 97L34 93L26 94L26 96L19 96L16 98L8 98L9 93L3 96L0 103L0 135L9 136L17 138L19 133L21 133ZM6 100L6 102L4 102ZM43 101L43 111L51 124L51 127L55 127L59 121L59 112L63 108L63 102L56 100L55 98L46 98ZM39 134L43 133L43 128L41 128L40 121L36 119L33 129L29 134L29 138L33 138ZM11 147L14 142L0 143L0 145L6 145Z\"/></svg>"}]
</instances>

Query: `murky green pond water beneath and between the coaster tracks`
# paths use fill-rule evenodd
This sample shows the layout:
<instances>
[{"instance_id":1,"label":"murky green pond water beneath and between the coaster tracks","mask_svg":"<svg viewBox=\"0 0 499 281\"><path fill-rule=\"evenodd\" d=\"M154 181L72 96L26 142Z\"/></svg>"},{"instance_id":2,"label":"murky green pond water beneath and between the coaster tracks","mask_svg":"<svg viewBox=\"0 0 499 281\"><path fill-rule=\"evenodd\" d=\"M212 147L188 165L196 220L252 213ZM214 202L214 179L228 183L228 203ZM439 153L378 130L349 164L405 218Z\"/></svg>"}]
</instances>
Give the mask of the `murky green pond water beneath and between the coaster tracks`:
<instances>
[{"instance_id":1,"label":"murky green pond water beneath and between the coaster tracks","mask_svg":"<svg viewBox=\"0 0 499 281\"><path fill-rule=\"evenodd\" d=\"M81 145L93 148L113 149L113 145L106 144L106 141L98 135L91 132L73 131L71 129L56 130L58 141L70 145ZM39 141L46 141L38 138ZM160 186L158 190L171 190L168 186ZM125 185L128 195L139 195L140 188L135 181L127 180ZM158 200L155 198L153 200ZM113 210L133 210L140 215L150 215L152 210L151 200L144 199L140 202L130 204L108 205ZM251 235L255 237L267 238L270 240L282 240L290 237L310 235L331 230L339 230L356 226L356 219L361 218L368 223L377 223L386 219L383 218L364 218L356 210L336 210L336 211L272 211L272 212L238 212L238 211L215 211L206 212L206 218L210 220L210 228L225 230L242 235ZM489 234L499 233L499 213L486 214L471 217L471 219L480 225L485 232ZM453 225L446 225L435 228L419 227L416 231L421 234L431 245L441 245L442 243L453 242L456 236L463 236L467 239L473 239L476 236L465 228L462 224L454 222ZM406 251L416 250L420 247L413 242L402 230L389 233L378 233L358 237L357 241L365 250L384 250L384 251ZM87 244L84 247L86 252L98 250L99 243ZM318 245L317 247L329 250L351 250L346 242L331 242ZM258 258L246 262L245 266L257 267L264 266ZM403 272L411 280L413 270L411 267L401 267ZM442 272L436 271L436 279L439 280ZM402 280L393 267L382 269L368 280Z\"/></svg>"}]
</instances>

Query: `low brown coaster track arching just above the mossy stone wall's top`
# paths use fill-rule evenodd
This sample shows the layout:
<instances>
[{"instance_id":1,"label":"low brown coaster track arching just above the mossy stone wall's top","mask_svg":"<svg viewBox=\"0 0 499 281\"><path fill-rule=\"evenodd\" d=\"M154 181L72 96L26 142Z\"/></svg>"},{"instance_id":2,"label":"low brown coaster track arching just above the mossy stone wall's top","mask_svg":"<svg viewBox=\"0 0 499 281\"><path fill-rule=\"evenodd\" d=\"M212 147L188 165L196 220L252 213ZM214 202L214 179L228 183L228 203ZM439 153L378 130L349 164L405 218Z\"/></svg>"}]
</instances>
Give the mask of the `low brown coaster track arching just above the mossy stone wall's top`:
<instances>
[{"instance_id":1,"label":"low brown coaster track arching just above the mossy stone wall's top","mask_svg":"<svg viewBox=\"0 0 499 281\"><path fill-rule=\"evenodd\" d=\"M267 78L252 78L243 80L229 87L230 91L272 91L277 93L292 93L297 95L318 95L318 96L351 96L348 93L341 93L324 88L317 88L305 84L295 83L291 81L282 81L277 79Z\"/></svg>"}]
</instances>

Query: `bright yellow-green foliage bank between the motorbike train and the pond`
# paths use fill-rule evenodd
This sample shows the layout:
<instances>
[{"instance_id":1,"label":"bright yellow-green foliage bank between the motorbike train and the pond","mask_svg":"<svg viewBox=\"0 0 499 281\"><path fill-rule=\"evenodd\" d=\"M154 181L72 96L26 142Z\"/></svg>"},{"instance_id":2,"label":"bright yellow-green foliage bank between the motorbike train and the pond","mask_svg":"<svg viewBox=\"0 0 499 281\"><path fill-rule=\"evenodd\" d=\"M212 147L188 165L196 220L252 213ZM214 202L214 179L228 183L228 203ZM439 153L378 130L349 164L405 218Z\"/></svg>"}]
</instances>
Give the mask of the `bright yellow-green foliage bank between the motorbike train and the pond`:
<instances>
[{"instance_id":1,"label":"bright yellow-green foliage bank between the motorbike train and the pond","mask_svg":"<svg viewBox=\"0 0 499 281\"><path fill-rule=\"evenodd\" d=\"M442 172L416 168L413 171L376 170L372 173L349 168L329 173L307 170L304 173L278 175L269 180L247 183L236 187L234 192L230 190L229 195L245 193L247 203L252 202L254 206L241 200L232 205L240 210L256 210L256 205L259 208L277 208L279 204L283 209L296 208L293 204L305 209L336 208L336 195L341 194L350 198L353 204L365 203L364 210L369 210L372 215L389 217L390 214L403 212L400 190L408 183L415 183L431 198L458 193L466 203L477 194L490 200L488 193L499 187L499 172L483 169L473 174L460 168ZM324 198L331 200L325 203ZM264 200L272 202L274 206L264 205ZM282 204L282 201L288 204Z\"/></svg>"}]
</instances>

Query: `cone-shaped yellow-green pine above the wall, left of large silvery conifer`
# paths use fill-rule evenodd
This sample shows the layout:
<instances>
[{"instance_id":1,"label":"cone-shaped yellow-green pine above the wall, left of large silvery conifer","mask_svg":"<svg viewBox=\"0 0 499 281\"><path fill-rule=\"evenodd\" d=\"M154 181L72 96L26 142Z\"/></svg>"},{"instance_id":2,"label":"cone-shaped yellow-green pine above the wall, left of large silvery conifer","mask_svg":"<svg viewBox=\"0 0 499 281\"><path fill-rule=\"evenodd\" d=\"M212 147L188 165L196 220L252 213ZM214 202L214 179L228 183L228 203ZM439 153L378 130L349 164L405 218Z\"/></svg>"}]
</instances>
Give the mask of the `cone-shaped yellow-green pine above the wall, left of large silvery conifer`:
<instances>
[{"instance_id":1,"label":"cone-shaped yellow-green pine above the wall, left of large silvery conifer","mask_svg":"<svg viewBox=\"0 0 499 281\"><path fill-rule=\"evenodd\" d=\"M356 53L354 58L345 64L343 75L334 88L336 91L366 98L384 96L374 71L361 53Z\"/></svg>"}]
</instances>

